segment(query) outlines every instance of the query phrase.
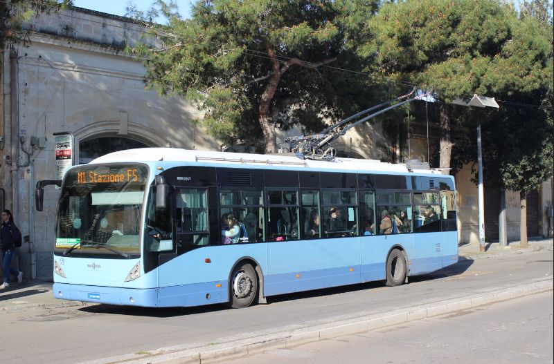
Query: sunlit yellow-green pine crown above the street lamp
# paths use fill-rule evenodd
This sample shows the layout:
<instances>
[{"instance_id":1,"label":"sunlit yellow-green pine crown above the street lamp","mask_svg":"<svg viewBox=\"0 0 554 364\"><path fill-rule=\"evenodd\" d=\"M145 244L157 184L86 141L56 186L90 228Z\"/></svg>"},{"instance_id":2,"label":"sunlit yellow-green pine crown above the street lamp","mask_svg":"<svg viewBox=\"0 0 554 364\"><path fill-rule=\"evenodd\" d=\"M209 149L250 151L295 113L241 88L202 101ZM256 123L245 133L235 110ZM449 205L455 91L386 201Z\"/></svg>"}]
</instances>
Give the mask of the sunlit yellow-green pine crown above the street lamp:
<instances>
[{"instance_id":1,"label":"sunlit yellow-green pine crown above the street lamp","mask_svg":"<svg viewBox=\"0 0 554 364\"><path fill-rule=\"evenodd\" d=\"M493 0L389 3L368 23L375 41L361 51L374 55L388 77L408 77L446 102L488 95L516 20L515 12Z\"/></svg>"}]
</instances>

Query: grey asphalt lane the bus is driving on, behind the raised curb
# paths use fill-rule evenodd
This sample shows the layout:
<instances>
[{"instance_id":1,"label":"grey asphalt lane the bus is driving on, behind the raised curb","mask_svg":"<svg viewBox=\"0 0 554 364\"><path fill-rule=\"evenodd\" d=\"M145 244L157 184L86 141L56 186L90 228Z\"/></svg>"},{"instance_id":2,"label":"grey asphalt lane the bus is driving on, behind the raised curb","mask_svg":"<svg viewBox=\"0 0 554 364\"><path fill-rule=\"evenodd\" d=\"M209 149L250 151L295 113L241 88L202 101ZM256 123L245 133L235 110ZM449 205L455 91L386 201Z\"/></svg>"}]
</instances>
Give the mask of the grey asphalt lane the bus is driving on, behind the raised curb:
<instances>
[{"instance_id":1,"label":"grey asphalt lane the bus is driving on, behind the raised curb","mask_svg":"<svg viewBox=\"0 0 554 364\"><path fill-rule=\"evenodd\" d=\"M409 285L383 282L271 298L269 305L226 309L142 309L98 305L0 315L3 363L76 363L160 347L217 343L226 336L270 332L334 316L387 312L440 299L464 297L553 275L553 252L462 260Z\"/></svg>"}]
</instances>

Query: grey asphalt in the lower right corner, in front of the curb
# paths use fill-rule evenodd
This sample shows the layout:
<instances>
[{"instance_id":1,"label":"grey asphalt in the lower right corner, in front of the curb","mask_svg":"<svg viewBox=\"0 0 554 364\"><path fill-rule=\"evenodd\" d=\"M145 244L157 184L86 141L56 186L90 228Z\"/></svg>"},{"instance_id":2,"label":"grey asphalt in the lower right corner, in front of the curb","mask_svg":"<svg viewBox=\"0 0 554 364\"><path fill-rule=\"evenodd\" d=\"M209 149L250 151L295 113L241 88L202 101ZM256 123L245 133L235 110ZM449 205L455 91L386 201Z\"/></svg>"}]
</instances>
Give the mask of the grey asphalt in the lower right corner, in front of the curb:
<instances>
[{"instance_id":1,"label":"grey asphalt in the lower right corner, in front of the curb","mask_svg":"<svg viewBox=\"0 0 554 364\"><path fill-rule=\"evenodd\" d=\"M226 361L227 364L553 363L553 292L364 334Z\"/></svg>"}]
</instances>

